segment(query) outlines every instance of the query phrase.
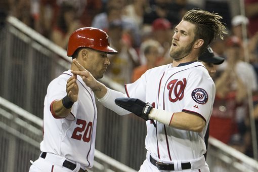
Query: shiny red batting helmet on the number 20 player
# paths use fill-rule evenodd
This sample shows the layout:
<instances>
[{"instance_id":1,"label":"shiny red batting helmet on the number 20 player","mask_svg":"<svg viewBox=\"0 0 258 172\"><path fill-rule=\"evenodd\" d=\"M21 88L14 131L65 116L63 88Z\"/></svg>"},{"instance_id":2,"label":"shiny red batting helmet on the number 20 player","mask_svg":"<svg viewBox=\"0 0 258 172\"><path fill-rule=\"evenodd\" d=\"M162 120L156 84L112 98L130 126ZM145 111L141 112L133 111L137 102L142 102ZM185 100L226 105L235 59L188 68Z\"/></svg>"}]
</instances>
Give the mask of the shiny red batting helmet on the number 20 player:
<instances>
[{"instance_id":1,"label":"shiny red batting helmet on the number 20 player","mask_svg":"<svg viewBox=\"0 0 258 172\"><path fill-rule=\"evenodd\" d=\"M106 32L94 27L83 27L75 30L69 38L67 47L67 56L80 47L88 47L91 49L107 52L108 54L117 54L118 52L109 47L109 37Z\"/></svg>"}]
</instances>

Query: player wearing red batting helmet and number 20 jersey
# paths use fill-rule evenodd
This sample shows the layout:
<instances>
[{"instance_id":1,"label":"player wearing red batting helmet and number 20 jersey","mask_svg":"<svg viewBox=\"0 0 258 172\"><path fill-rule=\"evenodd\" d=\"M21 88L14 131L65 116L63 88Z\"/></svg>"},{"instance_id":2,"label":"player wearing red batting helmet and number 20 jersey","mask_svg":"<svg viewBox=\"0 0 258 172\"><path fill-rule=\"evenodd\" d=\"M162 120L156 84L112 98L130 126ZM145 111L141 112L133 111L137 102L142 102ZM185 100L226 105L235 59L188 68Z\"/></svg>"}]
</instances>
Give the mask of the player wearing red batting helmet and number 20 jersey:
<instances>
[{"instance_id":1,"label":"player wearing red batting helmet and number 20 jersey","mask_svg":"<svg viewBox=\"0 0 258 172\"><path fill-rule=\"evenodd\" d=\"M107 54L116 53L106 32L97 28L77 29L68 41L67 56L95 78L102 78L110 64ZM77 68L72 64L71 69ZM80 76L68 70L51 81L44 102L41 154L31 161L29 171L87 171L93 166L96 120L94 93Z\"/></svg>"}]
</instances>

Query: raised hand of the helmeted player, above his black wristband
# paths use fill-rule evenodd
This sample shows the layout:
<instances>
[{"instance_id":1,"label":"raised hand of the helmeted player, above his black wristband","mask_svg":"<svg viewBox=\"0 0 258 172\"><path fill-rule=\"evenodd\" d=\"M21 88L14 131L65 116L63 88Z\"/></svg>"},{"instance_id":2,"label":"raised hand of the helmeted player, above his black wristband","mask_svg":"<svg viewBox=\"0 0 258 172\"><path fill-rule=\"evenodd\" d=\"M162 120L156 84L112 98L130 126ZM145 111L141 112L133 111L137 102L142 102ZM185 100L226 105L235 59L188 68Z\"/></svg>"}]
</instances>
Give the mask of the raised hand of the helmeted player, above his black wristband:
<instances>
[{"instance_id":1,"label":"raised hand of the helmeted player, above his black wristband","mask_svg":"<svg viewBox=\"0 0 258 172\"><path fill-rule=\"evenodd\" d=\"M77 76L73 75L67 80L66 83L66 93L72 102L76 102L78 100L79 88L76 79Z\"/></svg>"}]
</instances>

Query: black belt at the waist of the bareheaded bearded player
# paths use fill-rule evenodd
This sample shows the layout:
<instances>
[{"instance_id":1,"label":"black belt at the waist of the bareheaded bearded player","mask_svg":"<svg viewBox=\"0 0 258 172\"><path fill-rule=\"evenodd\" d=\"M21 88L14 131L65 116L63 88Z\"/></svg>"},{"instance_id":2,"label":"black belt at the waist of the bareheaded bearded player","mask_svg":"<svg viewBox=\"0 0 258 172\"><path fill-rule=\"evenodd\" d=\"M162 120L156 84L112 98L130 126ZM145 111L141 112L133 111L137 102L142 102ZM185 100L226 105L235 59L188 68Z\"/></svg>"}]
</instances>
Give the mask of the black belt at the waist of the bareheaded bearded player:
<instances>
[{"instance_id":1,"label":"black belt at the waist of the bareheaded bearded player","mask_svg":"<svg viewBox=\"0 0 258 172\"><path fill-rule=\"evenodd\" d=\"M156 161L151 155L150 155L150 161L153 165L155 165L159 170L175 170L173 163L163 163ZM182 169L190 169L192 168L191 163L181 163Z\"/></svg>"}]
</instances>

